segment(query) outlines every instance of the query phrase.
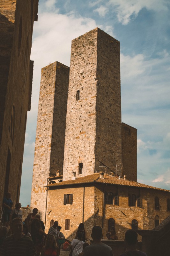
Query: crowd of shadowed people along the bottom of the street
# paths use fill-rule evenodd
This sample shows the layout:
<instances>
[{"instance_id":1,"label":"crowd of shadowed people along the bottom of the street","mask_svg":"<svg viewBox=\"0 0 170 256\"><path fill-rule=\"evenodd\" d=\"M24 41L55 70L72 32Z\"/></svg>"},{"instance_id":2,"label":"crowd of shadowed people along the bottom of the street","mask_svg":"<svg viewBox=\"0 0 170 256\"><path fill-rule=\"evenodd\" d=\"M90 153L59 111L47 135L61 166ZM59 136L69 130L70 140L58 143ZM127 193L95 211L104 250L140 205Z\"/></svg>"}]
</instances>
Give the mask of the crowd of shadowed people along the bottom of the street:
<instances>
[{"instance_id":1,"label":"crowd of shadowed people along the bottom of the street","mask_svg":"<svg viewBox=\"0 0 170 256\"><path fill-rule=\"evenodd\" d=\"M75 239L69 241L61 232L58 221L54 221L46 234L37 208L23 221L21 204L17 203L11 210L12 205L11 193L8 192L4 198L4 223L0 227L0 256L59 256L60 249L69 251L70 256L113 256L111 247L101 241L103 235L100 226L92 228L92 239L88 239L84 223L80 223ZM12 234L9 235L10 231ZM106 236L109 240L117 240L115 227L111 227ZM136 249L135 230L126 231L125 243L127 250L121 256L146 256Z\"/></svg>"}]
</instances>

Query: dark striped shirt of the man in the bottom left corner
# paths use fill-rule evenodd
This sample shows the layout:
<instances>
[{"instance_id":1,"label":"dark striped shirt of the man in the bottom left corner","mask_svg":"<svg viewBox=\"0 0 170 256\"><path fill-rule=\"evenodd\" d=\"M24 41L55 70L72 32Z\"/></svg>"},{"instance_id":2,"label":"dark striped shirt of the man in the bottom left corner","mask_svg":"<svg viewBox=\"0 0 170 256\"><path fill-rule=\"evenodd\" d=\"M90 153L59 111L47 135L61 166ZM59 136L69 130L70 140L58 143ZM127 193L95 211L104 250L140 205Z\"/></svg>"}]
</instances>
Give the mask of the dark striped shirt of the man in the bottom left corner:
<instances>
[{"instance_id":1,"label":"dark striped shirt of the man in the bottom left corner","mask_svg":"<svg viewBox=\"0 0 170 256\"><path fill-rule=\"evenodd\" d=\"M15 239L13 235L5 238L0 251L1 256L35 256L33 241L28 236Z\"/></svg>"}]
</instances>

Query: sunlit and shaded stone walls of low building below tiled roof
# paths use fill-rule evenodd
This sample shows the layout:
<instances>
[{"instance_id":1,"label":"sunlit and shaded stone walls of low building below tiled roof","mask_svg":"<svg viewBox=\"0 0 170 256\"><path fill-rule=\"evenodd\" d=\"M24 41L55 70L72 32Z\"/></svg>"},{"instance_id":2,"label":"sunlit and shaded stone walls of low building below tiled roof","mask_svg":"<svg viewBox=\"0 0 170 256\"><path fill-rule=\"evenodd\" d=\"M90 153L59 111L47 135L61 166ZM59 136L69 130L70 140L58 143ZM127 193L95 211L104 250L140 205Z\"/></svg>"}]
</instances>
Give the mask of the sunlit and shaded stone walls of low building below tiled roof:
<instances>
[{"instance_id":1,"label":"sunlit and shaded stone walls of low building below tiled roof","mask_svg":"<svg viewBox=\"0 0 170 256\"><path fill-rule=\"evenodd\" d=\"M105 204L105 192L112 192L114 195L118 193L119 205ZM83 193L84 188L81 185L70 188L49 188L46 228L49 228L51 220L58 220L64 235L73 239L79 223L83 222ZM63 204L64 194L73 194L73 204ZM137 202L136 206L129 206L129 194L134 194L136 197L141 196L141 207L137 207ZM160 210L154 209L155 195L160 199ZM170 193L165 191L109 184L95 187L88 185L88 187L85 186L84 197L84 224L88 238L90 238L93 225L99 225L102 227L106 239L110 218L115 220L118 239L124 240L126 230L131 229L132 220L137 220L138 230L152 229L155 225L156 215L159 216L160 221L169 215L167 198L170 198ZM65 219L70 219L70 230L65 230ZM138 241L141 241L140 236L138 236Z\"/></svg>"}]
</instances>

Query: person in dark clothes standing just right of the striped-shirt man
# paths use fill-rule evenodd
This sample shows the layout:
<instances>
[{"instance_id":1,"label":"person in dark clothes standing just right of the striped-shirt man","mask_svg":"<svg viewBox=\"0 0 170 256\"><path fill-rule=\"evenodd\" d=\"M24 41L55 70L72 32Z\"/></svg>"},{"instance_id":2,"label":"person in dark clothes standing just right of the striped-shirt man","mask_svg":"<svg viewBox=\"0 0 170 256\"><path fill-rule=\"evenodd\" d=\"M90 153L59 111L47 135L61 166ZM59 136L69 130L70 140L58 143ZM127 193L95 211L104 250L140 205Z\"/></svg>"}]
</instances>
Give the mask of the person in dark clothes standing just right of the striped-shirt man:
<instances>
[{"instance_id":1,"label":"person in dark clothes standing just right of the striped-shirt man","mask_svg":"<svg viewBox=\"0 0 170 256\"><path fill-rule=\"evenodd\" d=\"M37 256L39 256L41 249L44 246L44 237L46 238L47 234L42 231L40 221L36 218L31 223L31 237Z\"/></svg>"}]
</instances>

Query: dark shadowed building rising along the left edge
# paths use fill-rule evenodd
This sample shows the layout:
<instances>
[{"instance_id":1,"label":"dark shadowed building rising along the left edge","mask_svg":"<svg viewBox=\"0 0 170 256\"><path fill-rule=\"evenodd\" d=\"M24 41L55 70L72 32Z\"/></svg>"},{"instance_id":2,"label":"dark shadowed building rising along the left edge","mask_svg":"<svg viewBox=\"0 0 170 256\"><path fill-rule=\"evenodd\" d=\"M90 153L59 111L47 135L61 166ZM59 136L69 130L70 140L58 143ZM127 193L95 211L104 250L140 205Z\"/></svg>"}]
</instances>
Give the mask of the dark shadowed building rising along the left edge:
<instances>
[{"instance_id":1,"label":"dark shadowed building rising along the left edge","mask_svg":"<svg viewBox=\"0 0 170 256\"><path fill-rule=\"evenodd\" d=\"M19 200L26 117L31 108L33 22L38 0L0 1L0 212L9 190Z\"/></svg>"}]
</instances>

